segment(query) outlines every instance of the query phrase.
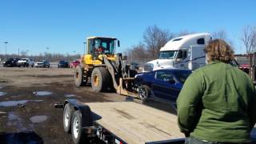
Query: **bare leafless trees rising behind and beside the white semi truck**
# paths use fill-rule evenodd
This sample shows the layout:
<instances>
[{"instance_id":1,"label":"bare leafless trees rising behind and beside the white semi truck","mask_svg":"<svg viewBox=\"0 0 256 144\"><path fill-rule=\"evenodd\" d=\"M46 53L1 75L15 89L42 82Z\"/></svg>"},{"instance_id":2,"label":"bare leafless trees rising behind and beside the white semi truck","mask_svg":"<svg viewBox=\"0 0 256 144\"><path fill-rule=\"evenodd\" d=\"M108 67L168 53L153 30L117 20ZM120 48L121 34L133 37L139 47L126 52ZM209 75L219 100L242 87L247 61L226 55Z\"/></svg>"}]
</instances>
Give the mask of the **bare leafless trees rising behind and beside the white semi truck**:
<instances>
[{"instance_id":1,"label":"bare leafless trees rising behind and beside the white semi truck","mask_svg":"<svg viewBox=\"0 0 256 144\"><path fill-rule=\"evenodd\" d=\"M128 58L130 61L143 60L143 59L156 59L158 58L159 50L169 42L170 39L176 38L186 34L193 34L194 32L181 31L178 34L170 32L170 30L164 30L158 26L148 26L143 34L142 42L131 46L127 50ZM211 34L212 38L220 38L230 43L234 49L234 43L232 39L228 38L228 34L225 30L218 30ZM244 26L242 34L239 40L246 48L246 54L256 52L256 26Z\"/></svg>"}]
</instances>

